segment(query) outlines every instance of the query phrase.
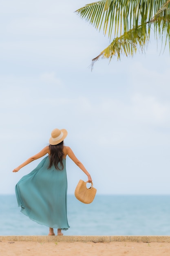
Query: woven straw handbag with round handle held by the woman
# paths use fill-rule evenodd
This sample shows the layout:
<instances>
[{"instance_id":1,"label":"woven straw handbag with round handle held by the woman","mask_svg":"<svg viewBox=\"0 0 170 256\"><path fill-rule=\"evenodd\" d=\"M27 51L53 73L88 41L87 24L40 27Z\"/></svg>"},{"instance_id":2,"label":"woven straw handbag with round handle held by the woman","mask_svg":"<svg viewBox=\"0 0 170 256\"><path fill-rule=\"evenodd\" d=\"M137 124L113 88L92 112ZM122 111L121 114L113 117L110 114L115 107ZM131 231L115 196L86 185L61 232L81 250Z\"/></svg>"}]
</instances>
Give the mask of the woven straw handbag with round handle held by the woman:
<instances>
[{"instance_id":1,"label":"woven straw handbag with round handle held by the woman","mask_svg":"<svg viewBox=\"0 0 170 256\"><path fill-rule=\"evenodd\" d=\"M91 182L90 188L87 188L86 184L87 181L79 180L75 188L75 197L84 204L90 204L95 198L97 189L93 188L93 182Z\"/></svg>"}]
</instances>

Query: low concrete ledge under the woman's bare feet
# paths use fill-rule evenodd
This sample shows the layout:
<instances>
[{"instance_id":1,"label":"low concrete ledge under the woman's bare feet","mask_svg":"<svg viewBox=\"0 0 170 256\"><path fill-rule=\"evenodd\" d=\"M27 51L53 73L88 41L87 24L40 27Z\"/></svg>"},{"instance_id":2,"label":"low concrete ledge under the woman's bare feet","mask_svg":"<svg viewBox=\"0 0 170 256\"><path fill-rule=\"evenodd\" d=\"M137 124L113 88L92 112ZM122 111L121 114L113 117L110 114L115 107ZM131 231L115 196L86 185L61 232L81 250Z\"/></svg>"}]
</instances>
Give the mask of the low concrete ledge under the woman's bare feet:
<instances>
[{"instance_id":1,"label":"low concrete ledge under the woman's bare feet","mask_svg":"<svg viewBox=\"0 0 170 256\"><path fill-rule=\"evenodd\" d=\"M141 242L170 243L170 236L0 236L0 241L25 242Z\"/></svg>"}]
</instances>

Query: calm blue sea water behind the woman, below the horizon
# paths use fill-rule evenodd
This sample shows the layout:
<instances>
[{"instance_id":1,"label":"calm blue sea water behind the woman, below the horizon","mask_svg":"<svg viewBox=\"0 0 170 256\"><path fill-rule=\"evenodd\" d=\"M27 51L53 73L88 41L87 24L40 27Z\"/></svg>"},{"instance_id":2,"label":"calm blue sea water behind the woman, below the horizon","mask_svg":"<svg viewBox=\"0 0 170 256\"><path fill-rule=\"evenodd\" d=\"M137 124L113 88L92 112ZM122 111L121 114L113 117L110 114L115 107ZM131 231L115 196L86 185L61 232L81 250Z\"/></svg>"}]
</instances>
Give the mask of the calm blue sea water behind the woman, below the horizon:
<instances>
[{"instance_id":1,"label":"calm blue sea water behind the woman, below the horizon","mask_svg":"<svg viewBox=\"0 0 170 256\"><path fill-rule=\"evenodd\" d=\"M68 195L64 235L170 235L170 195L96 195L91 204ZM0 195L0 235L46 235L48 227L20 213L15 195Z\"/></svg>"}]
</instances>

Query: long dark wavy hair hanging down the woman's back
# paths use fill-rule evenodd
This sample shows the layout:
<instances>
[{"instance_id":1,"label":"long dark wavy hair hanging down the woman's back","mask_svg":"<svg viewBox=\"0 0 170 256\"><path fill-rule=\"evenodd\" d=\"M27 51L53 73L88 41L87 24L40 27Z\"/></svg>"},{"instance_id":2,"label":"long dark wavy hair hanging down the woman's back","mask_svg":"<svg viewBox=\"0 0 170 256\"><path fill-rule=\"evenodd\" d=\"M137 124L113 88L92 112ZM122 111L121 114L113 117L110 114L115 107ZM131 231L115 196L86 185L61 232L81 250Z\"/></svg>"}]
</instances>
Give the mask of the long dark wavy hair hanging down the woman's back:
<instances>
[{"instance_id":1,"label":"long dark wavy hair hanging down the woman's back","mask_svg":"<svg viewBox=\"0 0 170 256\"><path fill-rule=\"evenodd\" d=\"M51 168L51 166L54 164L55 169L59 169L58 168L58 164L60 163L62 166L62 169L64 168L63 163L62 163L62 159L64 156L63 153L63 146L64 146L64 142L60 142L57 145L49 145L49 149L50 149L50 155L49 155L49 159L50 159L50 164L49 164L49 168Z\"/></svg>"}]
</instances>

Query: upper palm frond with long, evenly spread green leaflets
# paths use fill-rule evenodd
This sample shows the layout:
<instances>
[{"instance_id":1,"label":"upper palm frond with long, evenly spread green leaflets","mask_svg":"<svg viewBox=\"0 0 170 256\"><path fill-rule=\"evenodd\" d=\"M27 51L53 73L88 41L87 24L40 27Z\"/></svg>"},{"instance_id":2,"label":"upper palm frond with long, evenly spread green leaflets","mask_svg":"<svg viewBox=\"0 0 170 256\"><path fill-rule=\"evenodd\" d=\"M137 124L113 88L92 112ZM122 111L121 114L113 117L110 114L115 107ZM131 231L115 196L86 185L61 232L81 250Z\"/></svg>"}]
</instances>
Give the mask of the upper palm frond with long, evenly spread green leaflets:
<instances>
[{"instance_id":1,"label":"upper palm frond with long, evenly spread green leaflets","mask_svg":"<svg viewBox=\"0 0 170 256\"><path fill-rule=\"evenodd\" d=\"M115 26L115 37L121 35L122 31L124 33L134 27L137 29L139 24L151 20L154 13L157 13L157 16L154 16L157 19L168 11L169 2L169 0L166 3L165 0L100 0L86 4L75 12L99 31L103 28L105 35L108 31L108 36L111 38L113 26Z\"/></svg>"}]
</instances>

